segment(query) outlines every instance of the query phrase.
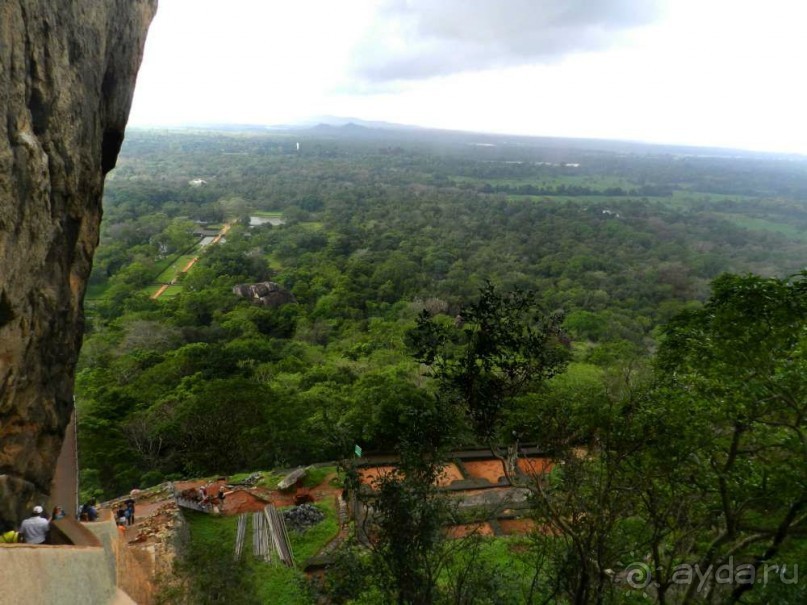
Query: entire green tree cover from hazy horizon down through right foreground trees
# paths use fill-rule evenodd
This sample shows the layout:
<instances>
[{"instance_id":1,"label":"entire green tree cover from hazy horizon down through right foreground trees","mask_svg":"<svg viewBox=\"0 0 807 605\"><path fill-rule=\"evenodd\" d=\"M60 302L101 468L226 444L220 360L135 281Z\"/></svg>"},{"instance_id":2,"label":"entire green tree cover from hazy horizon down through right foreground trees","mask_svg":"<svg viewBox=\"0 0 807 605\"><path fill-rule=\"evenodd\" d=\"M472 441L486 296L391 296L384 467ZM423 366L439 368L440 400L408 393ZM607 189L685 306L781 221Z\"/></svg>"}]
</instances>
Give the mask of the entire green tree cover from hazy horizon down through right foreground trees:
<instances>
[{"instance_id":1,"label":"entire green tree cover from hazy horizon down through right foreground trees","mask_svg":"<svg viewBox=\"0 0 807 605\"><path fill-rule=\"evenodd\" d=\"M422 587L452 602L463 590L622 602L608 574L641 553L656 601L696 602L708 595L677 588L681 561L803 560L805 199L794 158L357 129L135 131L107 184L90 280L82 490L334 460L355 444L404 456L414 444L403 463L421 468L427 450L438 461L449 445L503 452L515 439L563 469L548 484L513 478L562 538L521 557L534 582L494 586L513 574L482 556L487 580L462 585L477 551L434 575L429 562L453 548L428 513L443 507L428 482L391 483L387 526L418 532L423 559L396 567L387 552L376 568L388 575L362 572L375 580L343 583L345 598L409 602ZM250 227L254 216L283 224ZM224 241L200 246L227 223ZM233 293L267 280L296 302ZM486 293L528 296L536 312L488 309ZM501 339L485 336L494 329ZM537 336L516 346L524 334ZM401 497L428 514L394 516ZM395 547L390 537L379 544ZM355 572L362 557L344 561ZM743 586L718 600L804 596Z\"/></svg>"}]
</instances>

